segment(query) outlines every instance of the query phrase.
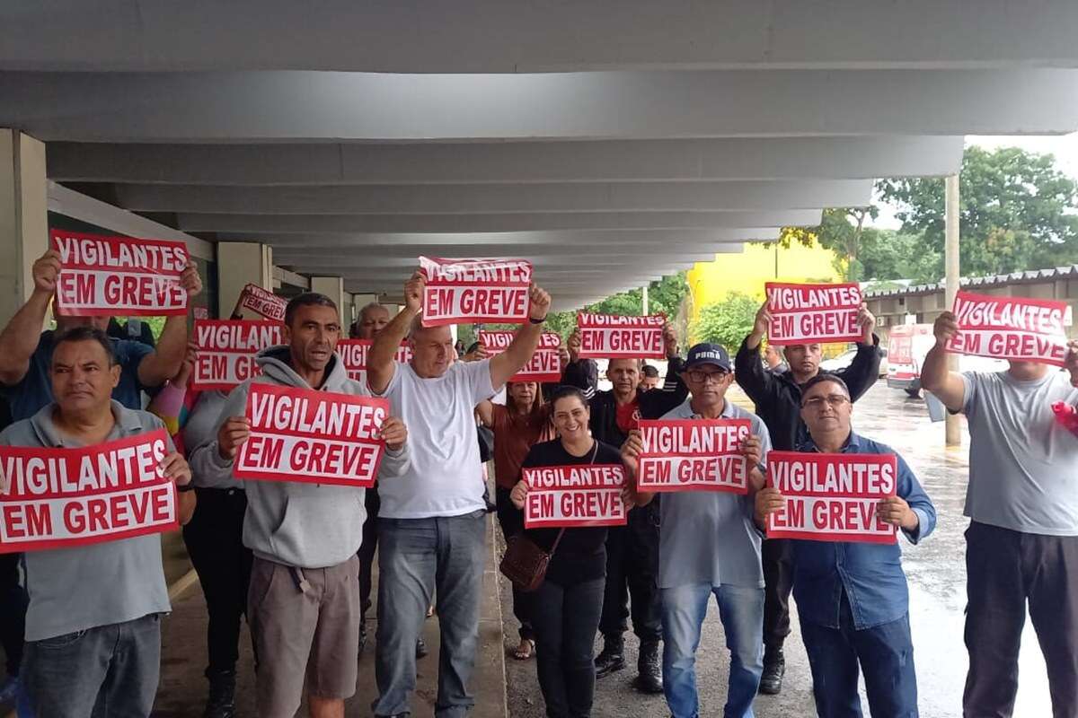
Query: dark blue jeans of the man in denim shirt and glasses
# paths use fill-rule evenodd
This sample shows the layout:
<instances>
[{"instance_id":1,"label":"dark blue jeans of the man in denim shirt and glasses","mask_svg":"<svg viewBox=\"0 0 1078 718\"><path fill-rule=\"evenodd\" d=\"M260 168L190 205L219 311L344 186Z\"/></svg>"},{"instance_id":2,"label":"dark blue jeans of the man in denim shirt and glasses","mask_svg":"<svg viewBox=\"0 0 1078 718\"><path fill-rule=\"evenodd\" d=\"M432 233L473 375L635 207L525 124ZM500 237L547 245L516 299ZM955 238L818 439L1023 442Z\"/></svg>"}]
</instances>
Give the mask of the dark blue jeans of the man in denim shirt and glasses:
<instances>
[{"instance_id":1,"label":"dark blue jeans of the man in denim shirt and glasses","mask_svg":"<svg viewBox=\"0 0 1078 718\"><path fill-rule=\"evenodd\" d=\"M801 636L812 667L819 718L861 718L858 667L872 718L917 718L917 675L913 668L910 616L858 631L845 593L839 628L801 619Z\"/></svg>"}]
</instances>

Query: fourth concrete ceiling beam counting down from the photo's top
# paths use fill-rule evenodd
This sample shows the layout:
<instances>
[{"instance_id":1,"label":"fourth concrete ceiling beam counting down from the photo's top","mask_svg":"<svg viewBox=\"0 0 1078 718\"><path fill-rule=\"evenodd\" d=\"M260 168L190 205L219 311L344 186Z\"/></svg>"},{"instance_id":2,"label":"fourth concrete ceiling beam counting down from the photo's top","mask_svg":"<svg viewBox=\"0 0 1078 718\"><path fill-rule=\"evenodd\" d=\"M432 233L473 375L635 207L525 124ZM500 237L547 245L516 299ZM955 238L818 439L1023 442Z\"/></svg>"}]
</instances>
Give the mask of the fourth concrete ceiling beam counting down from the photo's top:
<instances>
[{"instance_id":1,"label":"fourth concrete ceiling beam counting down from the photo's top","mask_svg":"<svg viewBox=\"0 0 1078 718\"><path fill-rule=\"evenodd\" d=\"M220 214L495 214L754 211L861 207L872 180L235 187L121 184L135 212Z\"/></svg>"}]
</instances>

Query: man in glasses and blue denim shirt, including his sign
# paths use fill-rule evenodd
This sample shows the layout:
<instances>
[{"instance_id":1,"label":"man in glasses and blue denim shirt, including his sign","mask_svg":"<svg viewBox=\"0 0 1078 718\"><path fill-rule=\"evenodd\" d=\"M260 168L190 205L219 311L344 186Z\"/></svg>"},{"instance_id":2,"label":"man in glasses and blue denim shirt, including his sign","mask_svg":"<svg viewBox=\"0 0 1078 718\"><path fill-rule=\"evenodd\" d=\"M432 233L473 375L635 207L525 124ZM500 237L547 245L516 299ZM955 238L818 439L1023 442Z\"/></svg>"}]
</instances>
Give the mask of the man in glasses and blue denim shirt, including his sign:
<instances>
[{"instance_id":1,"label":"man in glasses and blue denim shirt, including his sign","mask_svg":"<svg viewBox=\"0 0 1078 718\"><path fill-rule=\"evenodd\" d=\"M810 438L798 451L811 453L772 453L756 515L769 535L808 539L792 541L793 595L816 712L861 715L859 666L873 718L916 716L909 590L894 536L899 527L918 543L935 529L936 509L901 456L853 432L842 379L808 381L801 407ZM808 461L821 453L826 462ZM784 496L794 493L811 498Z\"/></svg>"}]
</instances>

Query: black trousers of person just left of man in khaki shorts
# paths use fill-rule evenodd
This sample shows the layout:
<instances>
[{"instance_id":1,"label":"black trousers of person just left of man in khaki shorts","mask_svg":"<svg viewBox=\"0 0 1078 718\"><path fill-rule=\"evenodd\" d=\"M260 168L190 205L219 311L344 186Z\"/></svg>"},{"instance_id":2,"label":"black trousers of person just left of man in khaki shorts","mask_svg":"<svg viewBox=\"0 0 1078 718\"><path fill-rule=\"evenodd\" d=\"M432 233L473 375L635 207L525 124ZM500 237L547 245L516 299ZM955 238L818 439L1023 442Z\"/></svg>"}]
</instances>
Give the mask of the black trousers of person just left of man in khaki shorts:
<instances>
[{"instance_id":1,"label":"black trousers of person just left of man in khaki shorts","mask_svg":"<svg viewBox=\"0 0 1078 718\"><path fill-rule=\"evenodd\" d=\"M240 489L195 489L198 504L183 526L188 546L206 595L209 628L206 675L234 671L239 658L239 622L247 613L251 551L244 546L247 494Z\"/></svg>"}]
</instances>

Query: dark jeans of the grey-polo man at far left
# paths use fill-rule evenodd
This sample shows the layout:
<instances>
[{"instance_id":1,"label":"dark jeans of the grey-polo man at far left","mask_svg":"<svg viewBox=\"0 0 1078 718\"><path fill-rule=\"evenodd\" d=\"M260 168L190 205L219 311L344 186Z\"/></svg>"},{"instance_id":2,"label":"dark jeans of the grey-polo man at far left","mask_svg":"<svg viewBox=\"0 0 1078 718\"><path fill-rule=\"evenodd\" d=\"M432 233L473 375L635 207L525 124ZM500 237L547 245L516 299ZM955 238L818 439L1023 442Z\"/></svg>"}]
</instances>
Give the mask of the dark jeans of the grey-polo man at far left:
<instances>
[{"instance_id":1,"label":"dark jeans of the grey-polo man at far left","mask_svg":"<svg viewBox=\"0 0 1078 718\"><path fill-rule=\"evenodd\" d=\"M49 718L147 718L161 675L161 617L27 640L23 684Z\"/></svg>"}]
</instances>

